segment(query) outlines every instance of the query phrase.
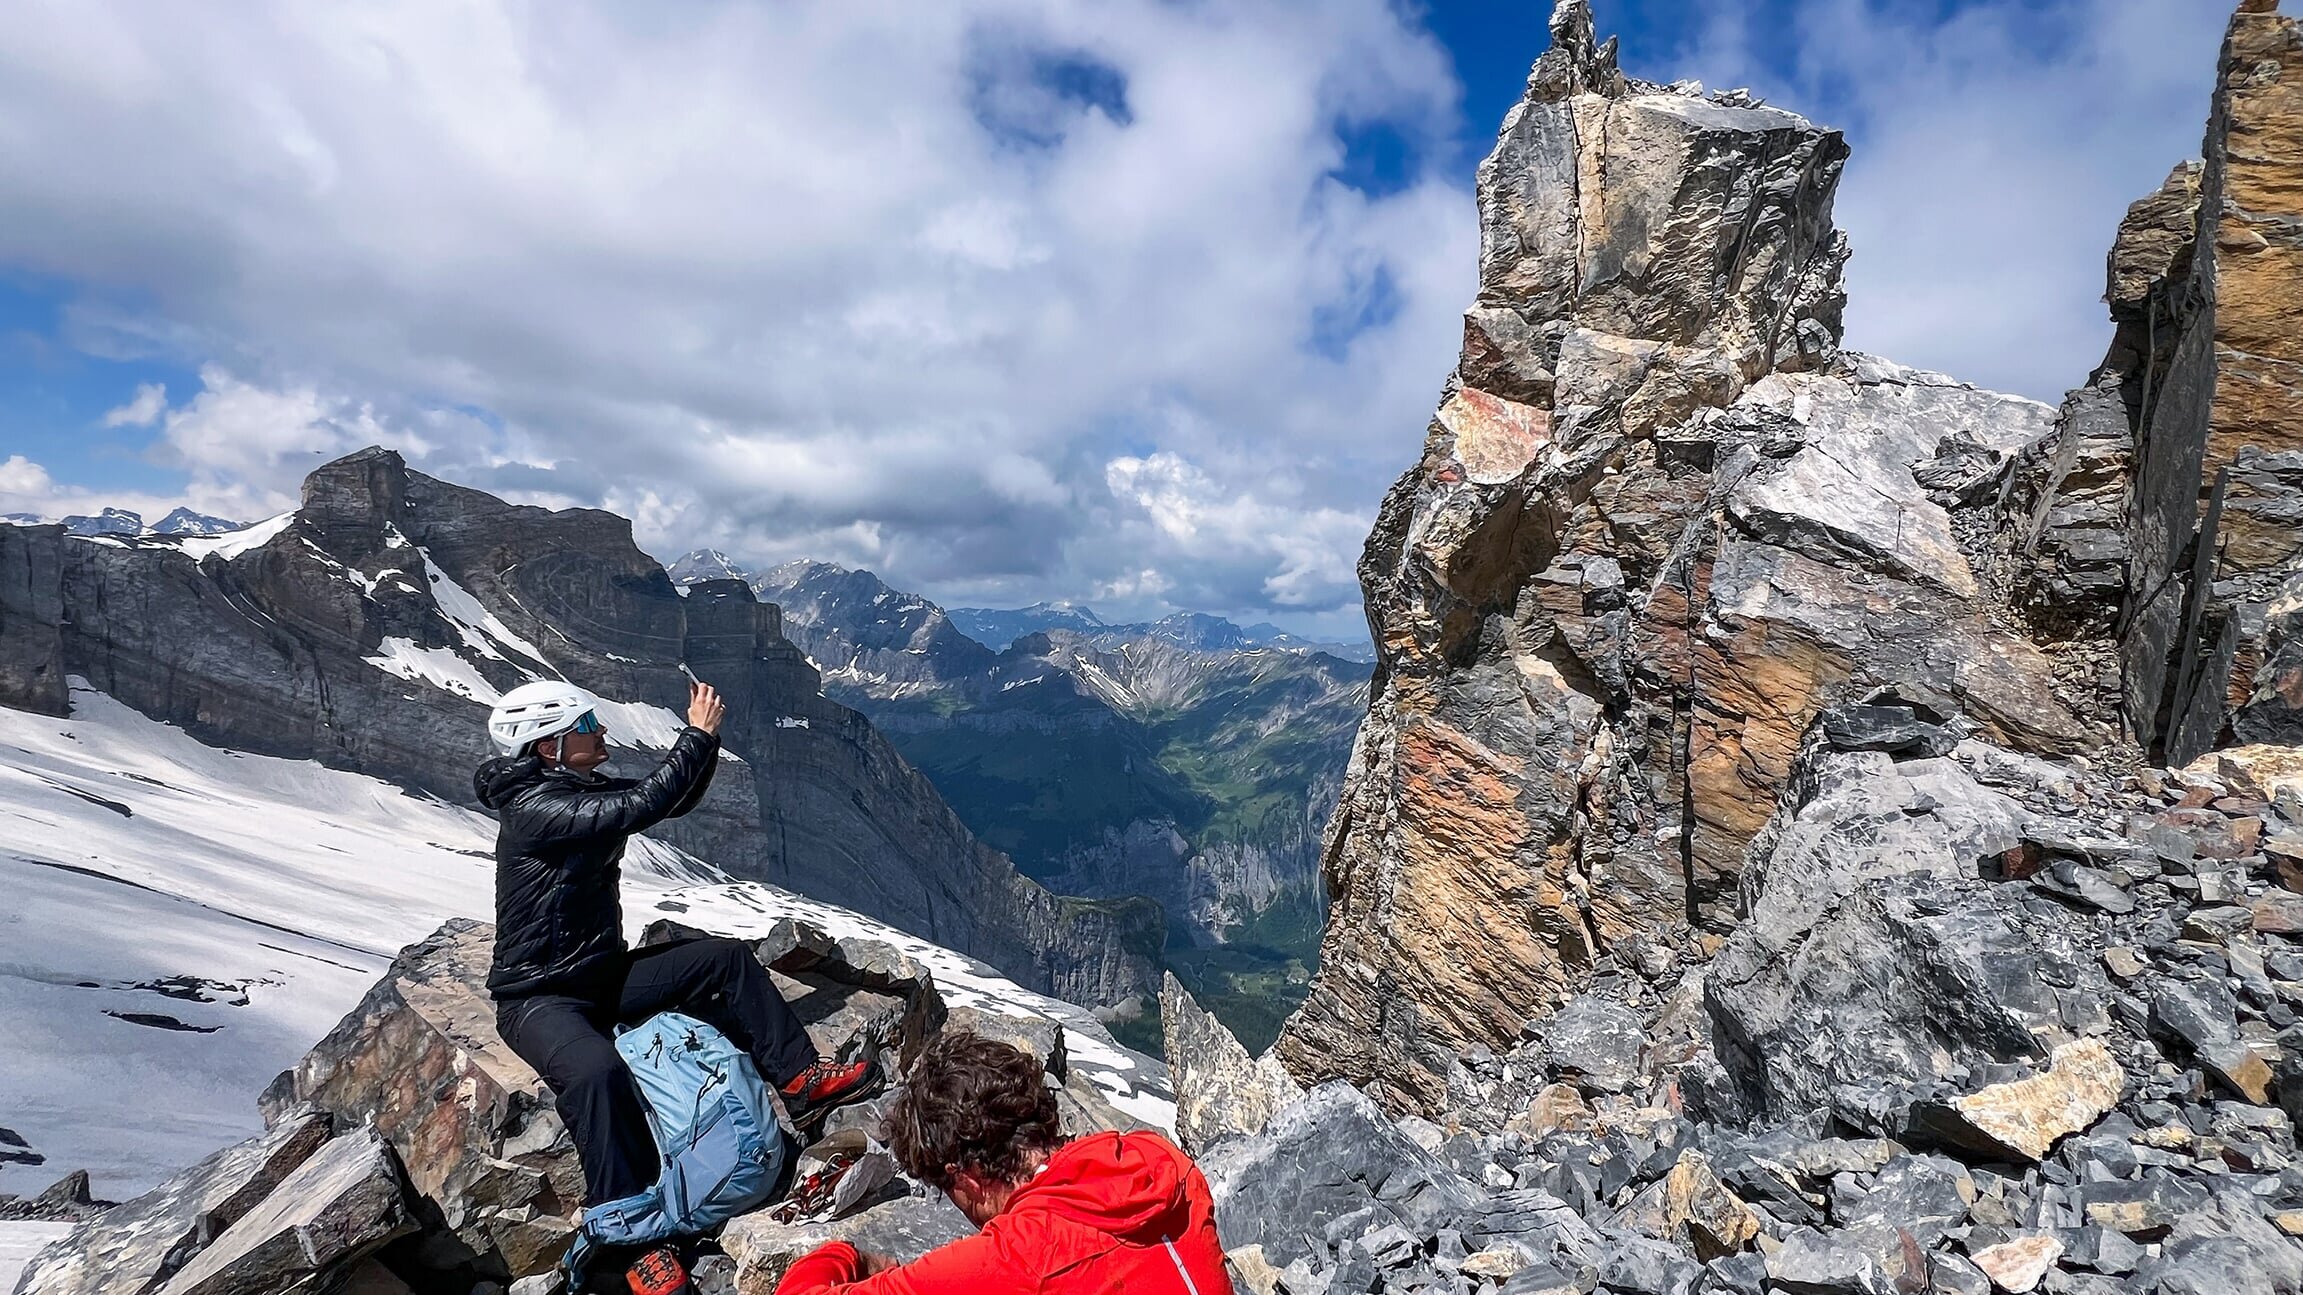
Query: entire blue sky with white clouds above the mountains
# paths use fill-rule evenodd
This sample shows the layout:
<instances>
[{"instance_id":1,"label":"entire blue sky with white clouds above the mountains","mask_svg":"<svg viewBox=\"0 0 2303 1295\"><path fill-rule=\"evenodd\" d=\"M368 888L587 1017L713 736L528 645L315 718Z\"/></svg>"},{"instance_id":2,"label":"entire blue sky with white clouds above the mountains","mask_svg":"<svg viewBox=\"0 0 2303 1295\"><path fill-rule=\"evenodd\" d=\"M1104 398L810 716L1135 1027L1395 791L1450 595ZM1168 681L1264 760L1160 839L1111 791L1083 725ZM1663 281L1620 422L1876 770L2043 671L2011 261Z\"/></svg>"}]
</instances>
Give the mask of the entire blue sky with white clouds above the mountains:
<instances>
[{"instance_id":1,"label":"entire blue sky with white clouds above the mountains","mask_svg":"<svg viewBox=\"0 0 2303 1295\"><path fill-rule=\"evenodd\" d=\"M1350 631L1550 5L834 9L18 23L0 509L256 516L387 440L666 558ZM1849 134L1852 346L2054 399L2227 5L1596 12Z\"/></svg>"}]
</instances>

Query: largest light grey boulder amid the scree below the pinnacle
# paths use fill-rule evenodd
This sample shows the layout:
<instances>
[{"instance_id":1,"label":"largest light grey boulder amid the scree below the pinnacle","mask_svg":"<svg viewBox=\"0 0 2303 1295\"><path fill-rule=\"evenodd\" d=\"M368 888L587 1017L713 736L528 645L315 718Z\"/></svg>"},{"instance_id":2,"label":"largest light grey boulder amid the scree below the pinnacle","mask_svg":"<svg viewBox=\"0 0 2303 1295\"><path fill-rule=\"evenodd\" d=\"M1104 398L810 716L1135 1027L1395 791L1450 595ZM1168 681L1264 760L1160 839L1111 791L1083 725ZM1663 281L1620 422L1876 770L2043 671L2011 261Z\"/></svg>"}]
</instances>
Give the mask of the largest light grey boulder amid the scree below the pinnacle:
<instances>
[{"instance_id":1,"label":"largest light grey boulder amid the scree below the pinnacle","mask_svg":"<svg viewBox=\"0 0 2303 1295\"><path fill-rule=\"evenodd\" d=\"M1978 864L2029 811L1978 781L1992 756L1812 751L1801 800L1753 850L1753 919L1704 975L1720 1062L1753 1113L1815 1111L1849 1085L1914 1097L1978 1062L2040 1062L2110 998L2077 915L2004 903ZM2011 765L2045 779L2043 770ZM2004 779L1994 770L1992 779ZM1893 1097L1900 1090L1902 1097Z\"/></svg>"}]
</instances>

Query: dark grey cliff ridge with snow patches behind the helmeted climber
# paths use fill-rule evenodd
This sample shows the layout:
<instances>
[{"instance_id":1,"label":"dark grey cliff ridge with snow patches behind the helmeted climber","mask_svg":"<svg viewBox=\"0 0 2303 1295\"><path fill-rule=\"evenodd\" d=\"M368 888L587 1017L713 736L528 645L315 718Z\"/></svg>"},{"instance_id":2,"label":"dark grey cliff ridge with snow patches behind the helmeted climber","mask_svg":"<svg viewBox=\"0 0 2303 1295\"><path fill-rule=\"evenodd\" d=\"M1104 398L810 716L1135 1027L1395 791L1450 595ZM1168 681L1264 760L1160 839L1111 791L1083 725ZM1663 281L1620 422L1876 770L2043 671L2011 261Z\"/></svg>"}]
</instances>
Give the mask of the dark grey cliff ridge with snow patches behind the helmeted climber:
<instances>
[{"instance_id":1,"label":"dark grey cliff ridge with snow patches behind the helmeted climber","mask_svg":"<svg viewBox=\"0 0 2303 1295\"><path fill-rule=\"evenodd\" d=\"M196 737L470 802L484 705L560 675L617 742L666 747L682 664L728 696L712 797L661 834L981 956L1078 1002L1149 995L1149 903L1055 896L986 848L857 712L827 700L742 581L682 597L594 509L516 507L371 449L221 539L0 528L0 703L62 714L64 675Z\"/></svg>"}]
</instances>

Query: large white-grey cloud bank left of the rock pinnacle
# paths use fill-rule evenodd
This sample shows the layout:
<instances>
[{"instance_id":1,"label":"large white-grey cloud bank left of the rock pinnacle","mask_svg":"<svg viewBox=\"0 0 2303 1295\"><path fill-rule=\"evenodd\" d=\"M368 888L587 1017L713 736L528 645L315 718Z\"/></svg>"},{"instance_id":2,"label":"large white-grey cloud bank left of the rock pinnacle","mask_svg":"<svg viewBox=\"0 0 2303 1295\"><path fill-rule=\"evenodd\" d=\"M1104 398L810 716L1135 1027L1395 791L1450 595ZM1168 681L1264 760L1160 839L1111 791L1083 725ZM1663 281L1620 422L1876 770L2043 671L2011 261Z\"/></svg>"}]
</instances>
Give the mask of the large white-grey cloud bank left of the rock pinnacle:
<instances>
[{"instance_id":1,"label":"large white-grey cloud bank left of the rock pinnacle","mask_svg":"<svg viewBox=\"0 0 2303 1295\"><path fill-rule=\"evenodd\" d=\"M207 362L168 454L251 502L419 440L661 553L1347 608L1350 553L1301 548L1363 528L1453 357L1455 97L1384 0L53 2L0 48L0 124L39 122L0 129L0 263ZM1333 175L1370 120L1412 152L1377 194ZM1156 452L1271 539L1133 525L1105 463Z\"/></svg>"}]
</instances>

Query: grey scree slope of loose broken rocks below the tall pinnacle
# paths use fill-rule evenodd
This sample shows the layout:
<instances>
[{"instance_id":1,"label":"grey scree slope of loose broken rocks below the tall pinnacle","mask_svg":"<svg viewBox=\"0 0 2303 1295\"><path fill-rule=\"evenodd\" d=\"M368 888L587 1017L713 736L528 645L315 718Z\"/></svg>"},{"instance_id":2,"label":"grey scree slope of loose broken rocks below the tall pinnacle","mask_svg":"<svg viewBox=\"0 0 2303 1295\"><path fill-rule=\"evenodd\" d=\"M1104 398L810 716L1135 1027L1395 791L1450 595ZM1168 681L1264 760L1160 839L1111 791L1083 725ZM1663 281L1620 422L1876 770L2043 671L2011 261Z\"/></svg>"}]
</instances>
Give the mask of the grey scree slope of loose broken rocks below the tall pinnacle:
<instances>
[{"instance_id":1,"label":"grey scree slope of loose broken rocks below the tall pinnacle","mask_svg":"<svg viewBox=\"0 0 2303 1295\"><path fill-rule=\"evenodd\" d=\"M1817 726L1707 965L1467 1048L1435 1120L1327 1083L1202 1152L1241 1288L2303 1288L2294 760L1909 737Z\"/></svg>"}]
</instances>

